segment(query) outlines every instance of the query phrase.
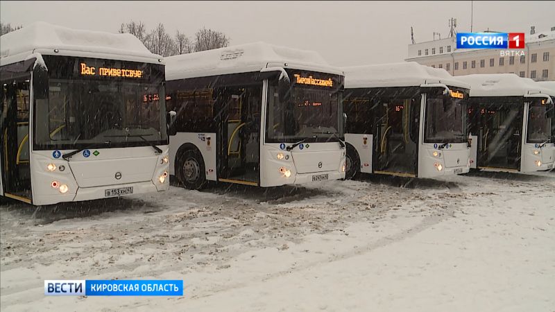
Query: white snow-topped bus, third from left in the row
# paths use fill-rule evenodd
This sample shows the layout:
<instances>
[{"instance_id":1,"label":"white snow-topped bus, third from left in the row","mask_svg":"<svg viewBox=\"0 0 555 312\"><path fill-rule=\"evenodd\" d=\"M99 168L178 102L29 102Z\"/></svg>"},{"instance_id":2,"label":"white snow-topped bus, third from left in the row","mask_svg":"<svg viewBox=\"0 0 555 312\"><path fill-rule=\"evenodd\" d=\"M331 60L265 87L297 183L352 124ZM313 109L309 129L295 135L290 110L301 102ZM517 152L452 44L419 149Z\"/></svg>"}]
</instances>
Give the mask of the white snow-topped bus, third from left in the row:
<instances>
[{"instance_id":1,"label":"white snow-topped bus, third from left in the row","mask_svg":"<svg viewBox=\"0 0 555 312\"><path fill-rule=\"evenodd\" d=\"M345 67L346 177L468 173L468 85L416 62Z\"/></svg>"}]
</instances>

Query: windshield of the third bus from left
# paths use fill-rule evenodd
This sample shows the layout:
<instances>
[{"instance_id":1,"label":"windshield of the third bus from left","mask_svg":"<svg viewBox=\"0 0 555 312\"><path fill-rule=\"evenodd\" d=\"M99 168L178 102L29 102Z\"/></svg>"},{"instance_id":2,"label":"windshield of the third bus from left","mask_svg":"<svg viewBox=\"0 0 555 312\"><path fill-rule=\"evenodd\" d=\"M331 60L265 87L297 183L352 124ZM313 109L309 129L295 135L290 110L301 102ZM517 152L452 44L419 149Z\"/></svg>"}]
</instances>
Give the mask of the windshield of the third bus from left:
<instances>
[{"instance_id":1,"label":"windshield of the third bus from left","mask_svg":"<svg viewBox=\"0 0 555 312\"><path fill-rule=\"evenodd\" d=\"M424 141L426 143L466 142L468 140L466 106L467 100L463 98L428 94Z\"/></svg>"}]
</instances>

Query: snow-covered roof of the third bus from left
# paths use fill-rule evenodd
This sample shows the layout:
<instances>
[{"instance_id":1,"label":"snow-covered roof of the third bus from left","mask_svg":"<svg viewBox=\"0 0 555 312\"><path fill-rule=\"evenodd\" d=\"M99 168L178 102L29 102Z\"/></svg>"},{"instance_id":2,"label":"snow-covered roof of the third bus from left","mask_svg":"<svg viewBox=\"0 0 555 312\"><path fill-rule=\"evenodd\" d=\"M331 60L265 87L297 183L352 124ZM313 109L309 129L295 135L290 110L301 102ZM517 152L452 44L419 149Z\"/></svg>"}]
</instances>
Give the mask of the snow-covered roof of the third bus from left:
<instances>
[{"instance_id":1,"label":"snow-covered roof of the third bus from left","mask_svg":"<svg viewBox=\"0 0 555 312\"><path fill-rule=\"evenodd\" d=\"M469 88L444 69L436 69L417 62L362 65L343 67L345 88L371 87L417 87L443 84L451 87Z\"/></svg>"}]
</instances>

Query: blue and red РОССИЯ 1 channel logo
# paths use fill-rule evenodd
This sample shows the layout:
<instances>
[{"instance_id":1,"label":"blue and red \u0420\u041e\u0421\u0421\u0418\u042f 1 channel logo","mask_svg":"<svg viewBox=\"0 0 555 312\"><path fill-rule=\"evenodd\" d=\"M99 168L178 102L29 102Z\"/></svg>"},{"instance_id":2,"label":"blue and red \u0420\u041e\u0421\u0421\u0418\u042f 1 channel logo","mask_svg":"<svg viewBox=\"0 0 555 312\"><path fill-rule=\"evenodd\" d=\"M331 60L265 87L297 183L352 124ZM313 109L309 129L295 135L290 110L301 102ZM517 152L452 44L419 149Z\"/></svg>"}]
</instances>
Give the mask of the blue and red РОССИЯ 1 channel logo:
<instances>
[{"instance_id":1,"label":"blue and red \u0420\u041e\u0421\u0421\u0418\u042f 1 channel logo","mask_svg":"<svg viewBox=\"0 0 555 312\"><path fill-rule=\"evenodd\" d=\"M524 33L457 33L456 49L524 49Z\"/></svg>"}]
</instances>

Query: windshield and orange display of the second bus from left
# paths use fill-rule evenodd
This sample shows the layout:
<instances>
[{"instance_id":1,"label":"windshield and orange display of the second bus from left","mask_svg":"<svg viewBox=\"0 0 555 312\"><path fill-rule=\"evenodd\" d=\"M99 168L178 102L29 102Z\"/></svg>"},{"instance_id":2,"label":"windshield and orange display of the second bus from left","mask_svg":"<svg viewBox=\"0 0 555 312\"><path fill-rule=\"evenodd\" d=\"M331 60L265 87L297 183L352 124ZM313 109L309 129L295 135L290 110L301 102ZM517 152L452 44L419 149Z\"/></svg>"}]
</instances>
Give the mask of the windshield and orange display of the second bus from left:
<instances>
[{"instance_id":1,"label":"windshield and orange display of the second bus from left","mask_svg":"<svg viewBox=\"0 0 555 312\"><path fill-rule=\"evenodd\" d=\"M332 75L302 72L289 73L289 76L293 79L289 100L285 103L280 101L277 84L268 87L266 142L327 142L343 138L343 123L340 121L343 115L342 78L333 76L326 80L330 82L328 86L321 86L296 83L296 78L314 77L321 82L324 76Z\"/></svg>"}]
</instances>

